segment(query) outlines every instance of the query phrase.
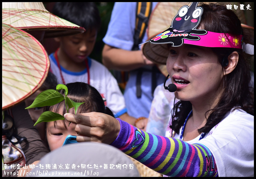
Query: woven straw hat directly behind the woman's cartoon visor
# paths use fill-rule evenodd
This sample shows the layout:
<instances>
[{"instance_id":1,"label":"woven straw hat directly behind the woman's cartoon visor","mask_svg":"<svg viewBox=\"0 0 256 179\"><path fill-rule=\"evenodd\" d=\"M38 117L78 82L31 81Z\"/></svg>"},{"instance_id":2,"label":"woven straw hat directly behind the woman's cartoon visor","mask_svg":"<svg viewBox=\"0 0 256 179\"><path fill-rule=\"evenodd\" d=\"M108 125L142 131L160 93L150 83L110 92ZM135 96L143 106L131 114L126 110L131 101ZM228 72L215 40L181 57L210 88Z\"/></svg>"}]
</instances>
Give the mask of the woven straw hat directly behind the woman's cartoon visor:
<instances>
[{"instance_id":1,"label":"woven straw hat directly behind the woman's cartoon visor","mask_svg":"<svg viewBox=\"0 0 256 179\"><path fill-rule=\"evenodd\" d=\"M207 2L205 2L207 3ZM168 29L172 24L173 17L177 14L178 10L184 6L189 6L191 2L159 2L151 13L150 19L148 21L148 30L147 36L148 40L152 39L159 33ZM237 5L240 7L238 2L223 2L223 5ZM246 27L244 23L246 23L246 18L244 12L242 10L234 11L239 17L242 27ZM166 60L169 55L169 50L167 49L166 44L152 44L152 43L144 43L143 45L143 54L145 57L153 62L155 62L159 68L159 70L165 75L168 75L166 69Z\"/></svg>"}]
</instances>

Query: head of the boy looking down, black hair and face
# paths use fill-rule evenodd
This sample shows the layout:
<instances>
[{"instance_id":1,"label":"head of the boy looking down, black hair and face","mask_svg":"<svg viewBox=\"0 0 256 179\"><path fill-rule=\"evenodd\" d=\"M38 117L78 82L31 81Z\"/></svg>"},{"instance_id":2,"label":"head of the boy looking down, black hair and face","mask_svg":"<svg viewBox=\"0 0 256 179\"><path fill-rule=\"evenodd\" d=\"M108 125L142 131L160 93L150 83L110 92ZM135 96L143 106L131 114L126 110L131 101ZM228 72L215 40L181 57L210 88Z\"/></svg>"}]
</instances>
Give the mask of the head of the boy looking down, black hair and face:
<instances>
[{"instance_id":1,"label":"head of the boy looking down, black hair and face","mask_svg":"<svg viewBox=\"0 0 256 179\"><path fill-rule=\"evenodd\" d=\"M86 29L84 33L78 35L55 38L60 43L60 51L70 60L83 62L91 54L101 26L101 17L96 4L56 2L52 13Z\"/></svg>"}]
</instances>

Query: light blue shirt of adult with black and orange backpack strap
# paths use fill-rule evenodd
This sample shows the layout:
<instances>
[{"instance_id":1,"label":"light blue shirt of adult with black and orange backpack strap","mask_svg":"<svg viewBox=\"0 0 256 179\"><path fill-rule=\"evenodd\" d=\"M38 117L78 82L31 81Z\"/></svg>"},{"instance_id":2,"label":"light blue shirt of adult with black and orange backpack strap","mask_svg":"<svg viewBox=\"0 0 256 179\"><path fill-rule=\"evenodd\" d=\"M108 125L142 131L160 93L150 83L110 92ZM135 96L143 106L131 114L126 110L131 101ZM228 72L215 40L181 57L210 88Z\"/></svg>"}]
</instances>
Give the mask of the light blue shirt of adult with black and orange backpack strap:
<instances>
[{"instance_id":1,"label":"light blue shirt of adult with black and orange backpack strap","mask_svg":"<svg viewBox=\"0 0 256 179\"><path fill-rule=\"evenodd\" d=\"M157 2L153 2L152 9ZM133 46L133 35L136 20L136 2L115 2L108 30L103 42L116 48L131 50ZM142 43L147 41L145 33ZM141 46L139 46L141 48ZM135 118L148 117L153 96L151 94L152 72L143 72L141 79L141 98L136 96L136 72L130 72L129 80L124 91L127 113ZM159 85L164 82L165 76L162 73L156 74L156 81Z\"/></svg>"}]
</instances>

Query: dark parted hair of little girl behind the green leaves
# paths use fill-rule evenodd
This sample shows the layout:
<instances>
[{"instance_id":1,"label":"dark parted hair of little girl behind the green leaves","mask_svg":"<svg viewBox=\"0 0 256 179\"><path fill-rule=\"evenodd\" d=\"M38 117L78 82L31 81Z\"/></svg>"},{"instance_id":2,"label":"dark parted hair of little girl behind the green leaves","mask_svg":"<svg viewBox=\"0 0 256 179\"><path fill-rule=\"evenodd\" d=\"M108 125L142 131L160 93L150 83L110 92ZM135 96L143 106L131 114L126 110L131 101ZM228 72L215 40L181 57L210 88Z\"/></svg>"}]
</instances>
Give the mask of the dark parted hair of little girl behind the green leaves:
<instances>
[{"instance_id":1,"label":"dark parted hair of little girl behind the green leaves","mask_svg":"<svg viewBox=\"0 0 256 179\"><path fill-rule=\"evenodd\" d=\"M112 111L105 106L104 100L100 93L91 85L83 82L74 82L68 83L66 84L66 86L68 88L69 99L77 103L84 102L83 104L81 104L81 106L78 107L77 114L99 112L114 117ZM61 90L60 93L62 95L65 95L65 91L63 90ZM63 109L61 115L67 113L65 100L49 107L49 110L55 113L60 113L60 109ZM69 109L69 113L75 113L74 108Z\"/></svg>"}]
</instances>

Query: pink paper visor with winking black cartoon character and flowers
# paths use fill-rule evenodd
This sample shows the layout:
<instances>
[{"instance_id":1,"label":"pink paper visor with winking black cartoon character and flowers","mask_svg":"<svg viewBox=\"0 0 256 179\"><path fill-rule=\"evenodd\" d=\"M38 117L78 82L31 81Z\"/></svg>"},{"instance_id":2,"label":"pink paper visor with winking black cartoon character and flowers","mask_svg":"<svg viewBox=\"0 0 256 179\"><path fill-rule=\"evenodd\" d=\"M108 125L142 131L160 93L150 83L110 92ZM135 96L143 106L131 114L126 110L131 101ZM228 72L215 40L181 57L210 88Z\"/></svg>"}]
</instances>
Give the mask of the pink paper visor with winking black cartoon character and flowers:
<instances>
[{"instance_id":1,"label":"pink paper visor with winking black cartoon character and flowers","mask_svg":"<svg viewBox=\"0 0 256 179\"><path fill-rule=\"evenodd\" d=\"M254 46L243 43L242 35L196 29L203 13L202 7L197 7L197 4L198 2L192 2L190 6L182 6L173 18L172 25L146 42L170 43L173 47L182 46L184 43L204 47L228 47L243 49L248 54L254 54Z\"/></svg>"}]
</instances>

